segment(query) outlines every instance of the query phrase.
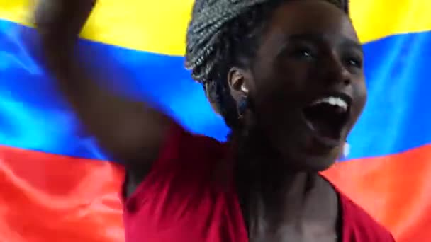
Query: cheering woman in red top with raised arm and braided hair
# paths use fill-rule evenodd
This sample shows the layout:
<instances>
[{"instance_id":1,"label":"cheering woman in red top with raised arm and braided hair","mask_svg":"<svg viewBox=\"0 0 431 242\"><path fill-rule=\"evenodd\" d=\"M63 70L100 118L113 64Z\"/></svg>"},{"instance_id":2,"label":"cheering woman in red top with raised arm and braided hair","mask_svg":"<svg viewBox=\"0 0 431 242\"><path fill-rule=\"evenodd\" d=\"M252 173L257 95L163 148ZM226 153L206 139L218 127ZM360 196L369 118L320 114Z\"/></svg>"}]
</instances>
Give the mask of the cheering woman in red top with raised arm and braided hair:
<instances>
[{"instance_id":1,"label":"cheering woman in red top with raised arm and braided hair","mask_svg":"<svg viewBox=\"0 0 431 242\"><path fill-rule=\"evenodd\" d=\"M347 2L196 1L186 67L232 129L225 144L96 85L74 51L93 4L45 1L36 22L60 89L125 163L126 241L393 241L318 174L366 101Z\"/></svg>"}]
</instances>

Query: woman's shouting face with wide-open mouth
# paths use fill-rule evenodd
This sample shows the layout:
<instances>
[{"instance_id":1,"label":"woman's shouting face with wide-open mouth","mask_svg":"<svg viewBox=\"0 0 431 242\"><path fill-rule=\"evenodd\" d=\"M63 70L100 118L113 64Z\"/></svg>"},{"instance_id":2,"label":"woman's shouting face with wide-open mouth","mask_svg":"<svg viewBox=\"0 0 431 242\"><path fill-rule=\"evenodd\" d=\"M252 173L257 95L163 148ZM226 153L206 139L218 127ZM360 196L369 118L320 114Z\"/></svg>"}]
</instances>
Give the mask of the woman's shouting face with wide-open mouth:
<instances>
[{"instance_id":1,"label":"woman's shouting face with wide-open mouth","mask_svg":"<svg viewBox=\"0 0 431 242\"><path fill-rule=\"evenodd\" d=\"M328 168L366 102L364 57L349 17L326 1L286 1L256 56L244 85L259 129L289 167Z\"/></svg>"}]
</instances>

